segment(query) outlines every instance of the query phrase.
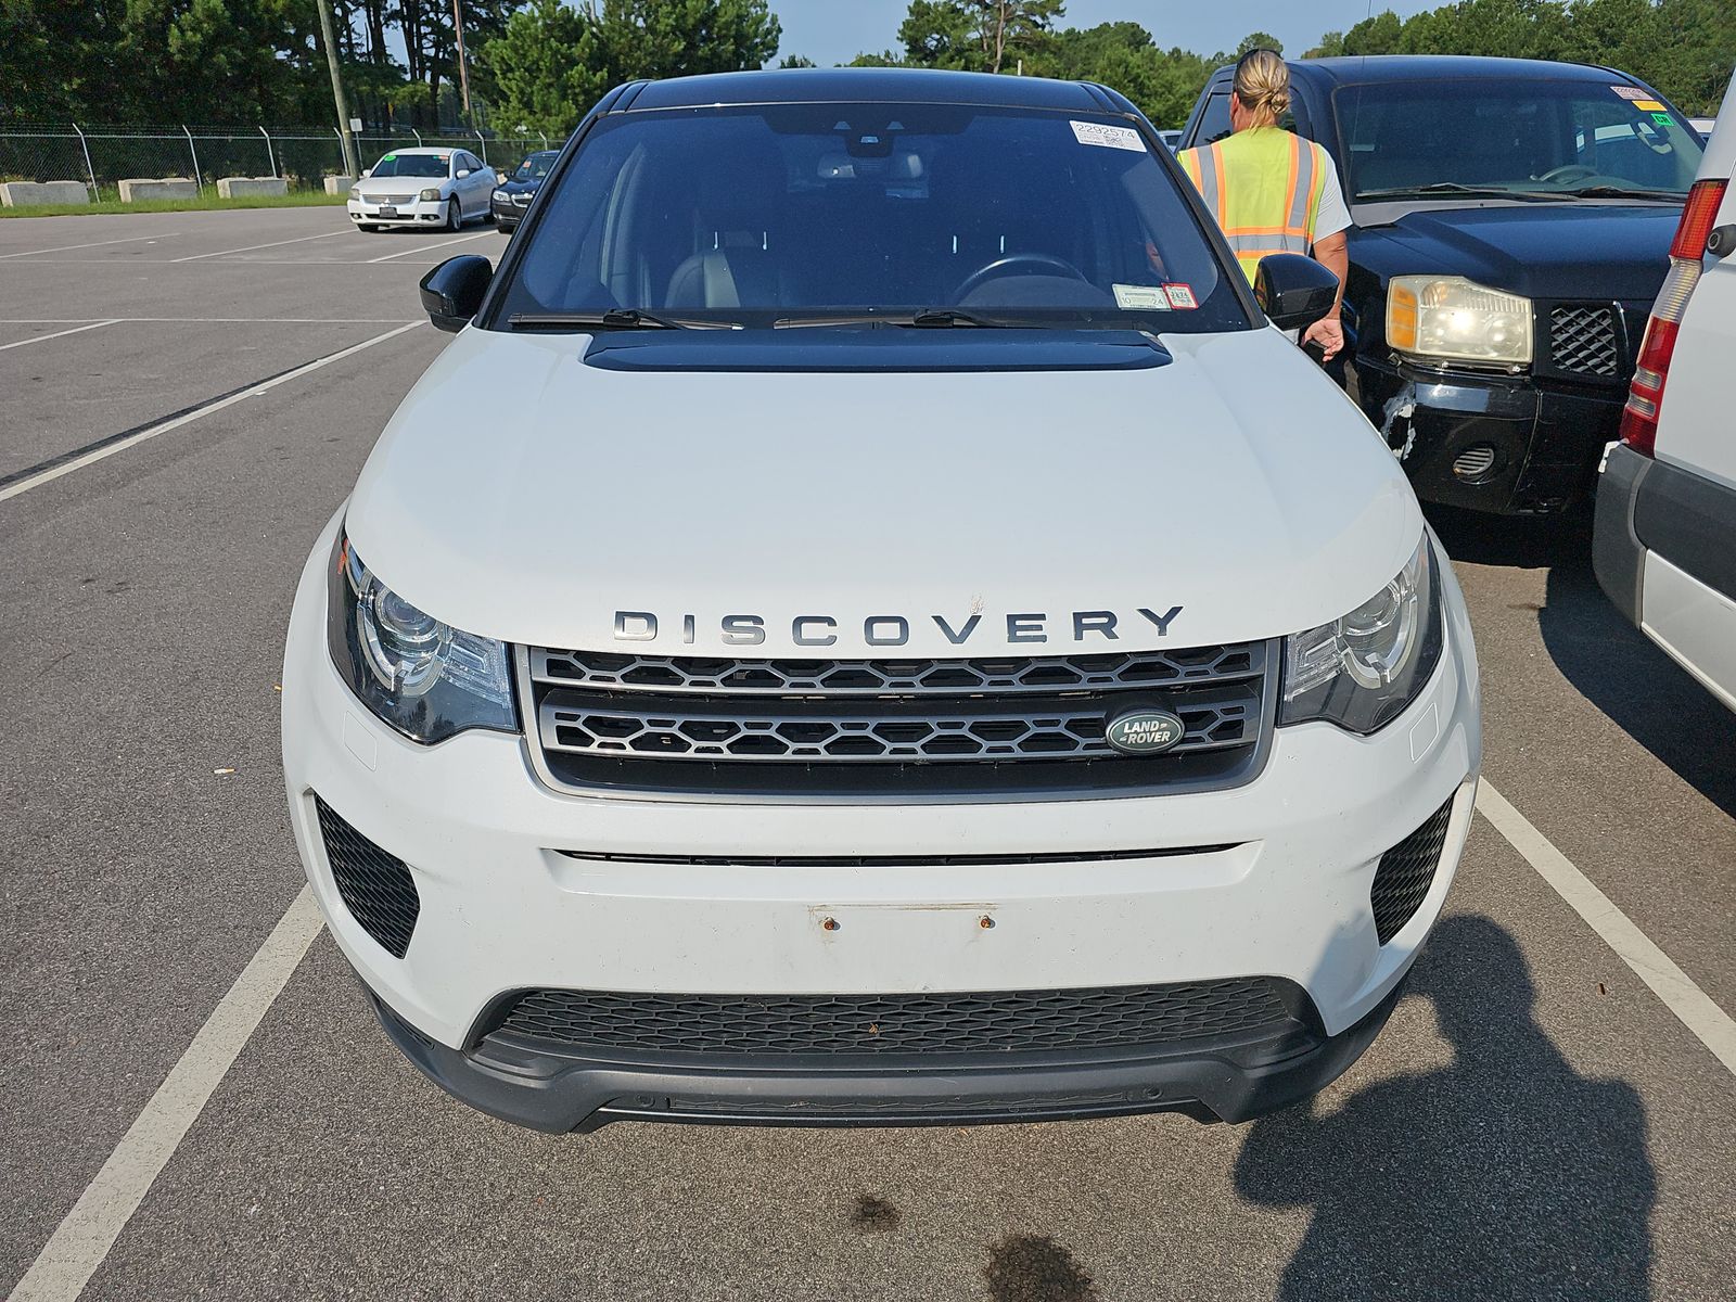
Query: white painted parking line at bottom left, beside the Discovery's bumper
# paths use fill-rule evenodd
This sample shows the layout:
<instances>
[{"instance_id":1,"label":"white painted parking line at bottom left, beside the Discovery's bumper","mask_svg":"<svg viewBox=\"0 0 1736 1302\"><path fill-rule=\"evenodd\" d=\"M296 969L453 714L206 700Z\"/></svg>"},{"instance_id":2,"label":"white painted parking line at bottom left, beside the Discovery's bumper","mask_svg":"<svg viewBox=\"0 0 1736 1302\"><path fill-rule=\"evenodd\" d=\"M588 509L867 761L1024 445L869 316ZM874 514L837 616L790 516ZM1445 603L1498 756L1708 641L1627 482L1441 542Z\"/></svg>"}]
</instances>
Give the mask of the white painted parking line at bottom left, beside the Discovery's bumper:
<instances>
[{"instance_id":1,"label":"white painted parking line at bottom left, beside the Discovery's bumper","mask_svg":"<svg viewBox=\"0 0 1736 1302\"><path fill-rule=\"evenodd\" d=\"M10 1302L73 1302L83 1292L323 925L312 891L302 885L102 1170L36 1253Z\"/></svg>"}]
</instances>

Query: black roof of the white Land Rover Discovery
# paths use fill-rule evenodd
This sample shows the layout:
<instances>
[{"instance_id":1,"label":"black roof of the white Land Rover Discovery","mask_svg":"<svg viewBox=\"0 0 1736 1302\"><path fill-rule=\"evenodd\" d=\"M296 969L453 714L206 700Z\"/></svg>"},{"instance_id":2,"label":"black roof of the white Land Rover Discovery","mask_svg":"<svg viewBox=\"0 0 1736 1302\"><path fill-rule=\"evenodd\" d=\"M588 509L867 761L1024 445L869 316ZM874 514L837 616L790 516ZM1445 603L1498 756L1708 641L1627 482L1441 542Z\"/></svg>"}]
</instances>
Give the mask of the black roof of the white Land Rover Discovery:
<instances>
[{"instance_id":1,"label":"black roof of the white Land Rover Discovery","mask_svg":"<svg viewBox=\"0 0 1736 1302\"><path fill-rule=\"evenodd\" d=\"M995 104L1005 108L1127 113L1120 95L1085 82L1043 76L950 73L934 68L774 68L705 73L628 87L616 109L701 108L712 104Z\"/></svg>"}]
</instances>

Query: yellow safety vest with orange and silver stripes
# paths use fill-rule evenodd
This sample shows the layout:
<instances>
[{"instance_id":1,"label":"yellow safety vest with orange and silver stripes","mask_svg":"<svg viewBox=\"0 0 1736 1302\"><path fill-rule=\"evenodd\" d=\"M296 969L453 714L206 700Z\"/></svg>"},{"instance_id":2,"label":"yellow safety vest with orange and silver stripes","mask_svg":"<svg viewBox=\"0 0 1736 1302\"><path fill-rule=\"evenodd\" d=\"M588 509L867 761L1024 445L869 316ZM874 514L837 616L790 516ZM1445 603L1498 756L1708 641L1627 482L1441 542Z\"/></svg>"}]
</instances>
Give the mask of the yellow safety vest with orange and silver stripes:
<instances>
[{"instance_id":1,"label":"yellow safety vest with orange and silver stripes","mask_svg":"<svg viewBox=\"0 0 1736 1302\"><path fill-rule=\"evenodd\" d=\"M1267 253L1307 253L1326 151L1278 127L1250 127L1217 144L1182 149L1175 160L1224 227L1248 283Z\"/></svg>"}]
</instances>

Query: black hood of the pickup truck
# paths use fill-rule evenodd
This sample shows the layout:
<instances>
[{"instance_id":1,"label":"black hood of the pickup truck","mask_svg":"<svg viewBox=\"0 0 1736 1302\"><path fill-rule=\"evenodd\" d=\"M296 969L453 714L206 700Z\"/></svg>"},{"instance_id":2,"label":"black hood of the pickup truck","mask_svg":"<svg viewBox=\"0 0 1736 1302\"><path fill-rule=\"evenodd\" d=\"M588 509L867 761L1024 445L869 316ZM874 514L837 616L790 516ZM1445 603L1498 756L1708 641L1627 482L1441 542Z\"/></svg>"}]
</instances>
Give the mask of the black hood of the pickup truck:
<instances>
[{"instance_id":1,"label":"black hood of the pickup truck","mask_svg":"<svg viewBox=\"0 0 1736 1302\"><path fill-rule=\"evenodd\" d=\"M1528 299L1656 297L1680 207L1516 203L1430 208L1356 231L1352 260L1385 276L1443 273Z\"/></svg>"}]
</instances>

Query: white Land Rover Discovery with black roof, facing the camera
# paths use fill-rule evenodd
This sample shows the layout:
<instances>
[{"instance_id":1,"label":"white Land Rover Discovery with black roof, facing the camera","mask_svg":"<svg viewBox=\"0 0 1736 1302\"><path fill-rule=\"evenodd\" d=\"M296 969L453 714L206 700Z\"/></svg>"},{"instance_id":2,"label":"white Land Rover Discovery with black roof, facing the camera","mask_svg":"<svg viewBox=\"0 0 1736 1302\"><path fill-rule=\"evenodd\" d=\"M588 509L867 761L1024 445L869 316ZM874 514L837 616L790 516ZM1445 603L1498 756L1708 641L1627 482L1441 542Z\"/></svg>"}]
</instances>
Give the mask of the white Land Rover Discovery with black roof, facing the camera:
<instances>
[{"instance_id":1,"label":"white Land Rover Discovery with black roof, facing the camera","mask_svg":"<svg viewBox=\"0 0 1736 1302\"><path fill-rule=\"evenodd\" d=\"M1245 1120L1375 1038L1472 818L1465 602L1283 335L1337 281L1262 311L1127 99L635 83L422 288L457 337L307 561L283 760L432 1080Z\"/></svg>"}]
</instances>

